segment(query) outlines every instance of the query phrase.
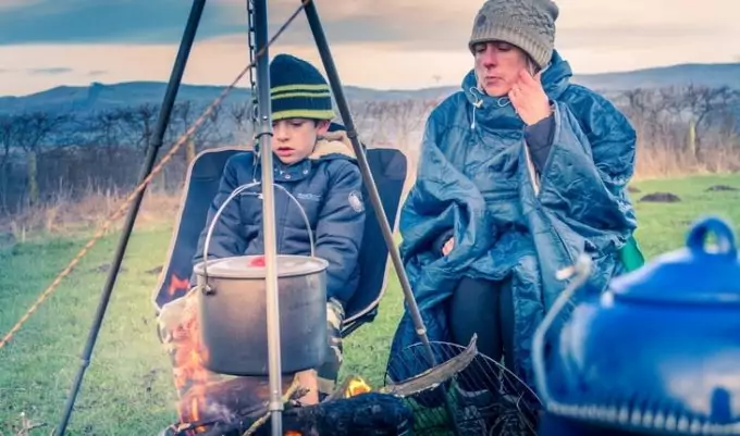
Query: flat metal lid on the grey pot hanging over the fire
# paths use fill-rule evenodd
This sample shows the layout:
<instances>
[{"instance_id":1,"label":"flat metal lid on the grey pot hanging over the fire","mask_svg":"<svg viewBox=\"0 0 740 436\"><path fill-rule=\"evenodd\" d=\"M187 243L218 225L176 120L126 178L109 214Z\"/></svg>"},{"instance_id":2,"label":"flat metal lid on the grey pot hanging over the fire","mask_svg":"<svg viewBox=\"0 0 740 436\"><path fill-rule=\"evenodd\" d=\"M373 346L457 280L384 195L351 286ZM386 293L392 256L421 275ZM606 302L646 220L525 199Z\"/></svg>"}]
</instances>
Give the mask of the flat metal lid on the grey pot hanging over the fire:
<instances>
[{"instance_id":1,"label":"flat metal lid on the grey pot hanging over the fire","mask_svg":"<svg viewBox=\"0 0 740 436\"><path fill-rule=\"evenodd\" d=\"M203 274L203 263L194 266L194 272ZM329 263L319 258L308 256L278 256L278 276L291 277L322 272ZM220 278L264 278L267 267L263 256L238 256L232 258L208 260L208 276Z\"/></svg>"}]
</instances>

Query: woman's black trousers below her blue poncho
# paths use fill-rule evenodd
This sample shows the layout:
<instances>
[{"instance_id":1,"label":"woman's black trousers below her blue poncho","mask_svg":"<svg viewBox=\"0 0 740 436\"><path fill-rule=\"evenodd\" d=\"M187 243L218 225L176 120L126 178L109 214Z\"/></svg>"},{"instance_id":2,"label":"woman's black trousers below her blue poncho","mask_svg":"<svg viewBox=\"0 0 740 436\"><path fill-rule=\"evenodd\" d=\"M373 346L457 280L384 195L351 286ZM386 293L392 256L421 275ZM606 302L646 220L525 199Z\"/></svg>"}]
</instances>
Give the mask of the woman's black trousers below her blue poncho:
<instances>
[{"instance_id":1,"label":"woman's black trousers below her blue poncho","mask_svg":"<svg viewBox=\"0 0 740 436\"><path fill-rule=\"evenodd\" d=\"M453 342L465 347L476 334L480 353L496 362L502 362L503 358L506 369L516 373L510 279L490 282L464 277L448 300L447 321ZM460 374L460 385L466 390L497 388L494 370L490 363L486 365L482 359L476 359Z\"/></svg>"}]
</instances>

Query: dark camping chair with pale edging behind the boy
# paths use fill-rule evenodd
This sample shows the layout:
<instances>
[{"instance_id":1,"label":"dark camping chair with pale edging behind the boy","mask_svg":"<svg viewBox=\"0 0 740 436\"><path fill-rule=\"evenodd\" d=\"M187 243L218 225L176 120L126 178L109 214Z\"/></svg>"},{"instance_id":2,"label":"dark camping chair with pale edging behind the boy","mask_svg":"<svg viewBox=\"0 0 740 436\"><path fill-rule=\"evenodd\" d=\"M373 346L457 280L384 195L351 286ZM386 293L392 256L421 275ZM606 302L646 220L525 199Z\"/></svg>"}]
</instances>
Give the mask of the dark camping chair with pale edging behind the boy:
<instances>
[{"instance_id":1,"label":"dark camping chair with pale edging behind the boy","mask_svg":"<svg viewBox=\"0 0 740 436\"><path fill-rule=\"evenodd\" d=\"M341 128L333 124L332 130ZM170 241L170 249L155 288L157 313L165 303L183 297L189 290L193 256L200 232L206 226L208 208L219 190L219 182L226 161L232 155L248 151L244 148L219 148L200 152L188 167L180 216ZM407 162L404 153L391 148L365 150L370 171L385 211L395 231L398 205L406 182ZM367 199L367 187L363 188ZM346 337L365 323L372 322L386 289L388 249L380 224L368 201L365 236L359 254L359 287L345 308L342 336Z\"/></svg>"}]
</instances>

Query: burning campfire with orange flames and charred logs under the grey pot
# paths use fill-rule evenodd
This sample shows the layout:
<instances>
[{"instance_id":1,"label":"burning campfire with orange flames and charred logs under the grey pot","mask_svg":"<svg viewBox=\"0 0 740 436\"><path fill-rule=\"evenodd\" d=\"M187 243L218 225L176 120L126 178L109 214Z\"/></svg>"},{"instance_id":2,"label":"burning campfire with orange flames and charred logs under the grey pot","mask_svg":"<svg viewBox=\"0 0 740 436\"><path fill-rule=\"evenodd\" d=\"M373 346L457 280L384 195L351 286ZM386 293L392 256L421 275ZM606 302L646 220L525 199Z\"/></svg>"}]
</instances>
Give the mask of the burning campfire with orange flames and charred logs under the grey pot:
<instances>
[{"instance_id":1,"label":"burning campfire with orange flames and charred logs under the grey pot","mask_svg":"<svg viewBox=\"0 0 740 436\"><path fill-rule=\"evenodd\" d=\"M173 294L186 281L173 277ZM173 368L177 423L160 436L269 435L268 377L231 376L207 370L199 342L195 291L165 304L159 334ZM411 412L393 395L372 391L361 377L349 377L321 403L306 403L300 374L283 377L285 435L397 435L412 422Z\"/></svg>"}]
</instances>

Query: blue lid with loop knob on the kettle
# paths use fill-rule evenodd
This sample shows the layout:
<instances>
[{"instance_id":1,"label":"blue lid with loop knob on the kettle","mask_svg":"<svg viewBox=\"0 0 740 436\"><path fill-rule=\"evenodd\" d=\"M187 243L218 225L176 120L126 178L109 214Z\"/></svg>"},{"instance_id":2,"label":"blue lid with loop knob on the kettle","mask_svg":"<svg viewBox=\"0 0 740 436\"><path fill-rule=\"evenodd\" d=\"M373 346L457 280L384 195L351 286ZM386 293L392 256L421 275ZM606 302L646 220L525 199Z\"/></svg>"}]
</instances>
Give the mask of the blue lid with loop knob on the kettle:
<instances>
[{"instance_id":1,"label":"blue lid with loop knob on the kettle","mask_svg":"<svg viewBox=\"0 0 740 436\"><path fill-rule=\"evenodd\" d=\"M715 244L708 246L712 234ZM700 220L689 231L684 248L615 277L609 292L615 300L740 303L740 262L730 225L717 216Z\"/></svg>"}]
</instances>

